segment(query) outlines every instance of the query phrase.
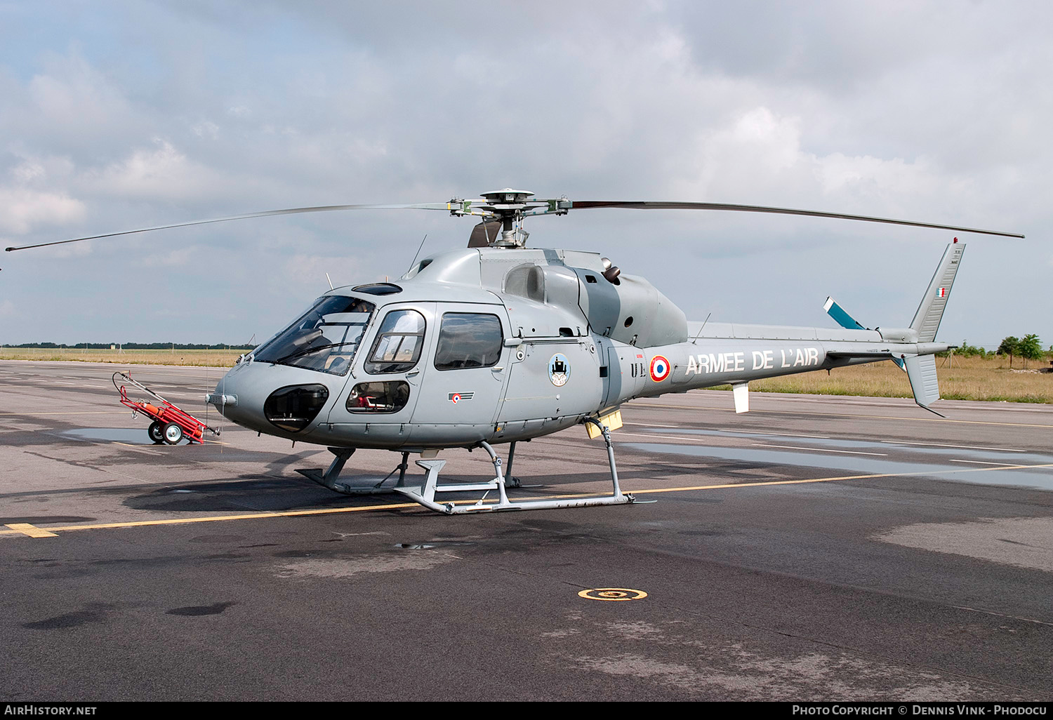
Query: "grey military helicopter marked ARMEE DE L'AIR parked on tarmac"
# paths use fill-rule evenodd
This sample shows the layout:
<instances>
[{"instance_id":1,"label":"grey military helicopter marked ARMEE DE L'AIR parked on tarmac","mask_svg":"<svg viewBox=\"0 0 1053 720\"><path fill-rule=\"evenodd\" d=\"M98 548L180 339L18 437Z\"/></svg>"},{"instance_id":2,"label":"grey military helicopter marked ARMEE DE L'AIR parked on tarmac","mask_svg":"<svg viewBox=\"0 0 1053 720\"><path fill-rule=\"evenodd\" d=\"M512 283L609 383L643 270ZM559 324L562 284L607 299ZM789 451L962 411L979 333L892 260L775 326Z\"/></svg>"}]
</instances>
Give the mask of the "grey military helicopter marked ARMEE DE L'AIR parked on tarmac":
<instances>
[{"instance_id":1,"label":"grey military helicopter marked ARMEE DE L'AIR parked on tarmac","mask_svg":"<svg viewBox=\"0 0 1053 720\"><path fill-rule=\"evenodd\" d=\"M735 412L746 413L751 381L892 360L906 371L915 402L936 413L935 355L955 347L936 342L936 332L966 247L957 238L906 327L867 327L833 298L823 307L837 328L695 322L648 280L597 253L526 247L525 218L583 208L770 213L1024 237L760 205L542 199L506 187L444 203L266 211L6 249L330 211L432 209L481 218L468 247L414 258L396 281L331 288L239 357L205 396L243 427L326 446L334 456L327 468L298 472L331 491L394 492L443 514L638 502L621 492L611 440L621 426L621 405L636 398L730 384ZM578 424L590 438L603 438L611 494L510 499L508 489L521 486L512 475L516 443ZM494 448L505 443L506 465ZM399 453L401 462L379 480L341 479L351 456L366 448ZM483 449L494 477L440 483L446 461L437 456L452 448ZM420 456L422 477L408 477L411 455ZM397 480L386 485L396 471ZM482 494L474 503L437 499L473 492Z\"/></svg>"}]
</instances>

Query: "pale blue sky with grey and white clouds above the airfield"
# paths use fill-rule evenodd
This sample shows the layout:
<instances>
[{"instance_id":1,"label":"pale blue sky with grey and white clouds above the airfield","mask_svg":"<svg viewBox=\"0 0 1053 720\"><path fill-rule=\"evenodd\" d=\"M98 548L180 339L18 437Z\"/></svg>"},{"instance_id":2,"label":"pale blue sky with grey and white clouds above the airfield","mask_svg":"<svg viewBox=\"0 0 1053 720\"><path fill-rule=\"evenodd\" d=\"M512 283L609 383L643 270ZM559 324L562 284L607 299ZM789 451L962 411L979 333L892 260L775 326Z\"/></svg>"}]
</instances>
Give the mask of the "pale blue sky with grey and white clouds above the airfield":
<instances>
[{"instance_id":1,"label":"pale blue sky with grey and white clouds above the airfield","mask_svg":"<svg viewBox=\"0 0 1053 720\"><path fill-rule=\"evenodd\" d=\"M940 338L1053 342L1053 5L1038 2L4 2L3 246L303 205L806 207L1024 233L969 248ZM338 284L464 246L371 211L0 254L0 343L245 342ZM953 233L581 211L691 319L909 324Z\"/></svg>"}]
</instances>

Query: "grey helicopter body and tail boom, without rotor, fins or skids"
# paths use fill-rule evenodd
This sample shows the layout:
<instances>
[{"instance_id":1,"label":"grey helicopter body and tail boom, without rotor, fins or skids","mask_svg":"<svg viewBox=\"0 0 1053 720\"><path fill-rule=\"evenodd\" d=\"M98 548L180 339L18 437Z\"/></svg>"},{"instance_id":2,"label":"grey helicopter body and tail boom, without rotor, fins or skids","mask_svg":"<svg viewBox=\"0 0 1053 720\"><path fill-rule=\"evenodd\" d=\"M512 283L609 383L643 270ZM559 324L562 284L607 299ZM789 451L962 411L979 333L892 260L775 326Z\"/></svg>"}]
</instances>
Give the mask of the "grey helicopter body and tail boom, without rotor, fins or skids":
<instances>
[{"instance_id":1,"label":"grey helicopter body and tail boom, without rotor, fins or skids","mask_svg":"<svg viewBox=\"0 0 1053 720\"><path fill-rule=\"evenodd\" d=\"M529 440L633 398L947 347L910 328L690 323L609 266L595 253L472 247L395 283L333 289L210 401L295 441L421 452Z\"/></svg>"}]
</instances>

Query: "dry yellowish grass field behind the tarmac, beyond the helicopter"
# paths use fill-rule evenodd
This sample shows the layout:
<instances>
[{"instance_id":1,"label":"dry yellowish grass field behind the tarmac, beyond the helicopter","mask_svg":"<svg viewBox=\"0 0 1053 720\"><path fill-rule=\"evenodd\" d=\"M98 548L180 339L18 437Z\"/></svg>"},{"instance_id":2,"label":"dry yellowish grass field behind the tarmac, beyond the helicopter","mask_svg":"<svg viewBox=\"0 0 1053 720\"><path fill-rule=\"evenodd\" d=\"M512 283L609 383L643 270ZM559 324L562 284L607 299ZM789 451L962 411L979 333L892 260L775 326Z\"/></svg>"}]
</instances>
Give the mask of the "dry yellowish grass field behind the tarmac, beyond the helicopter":
<instances>
[{"instance_id":1,"label":"dry yellowish grass field behind the tarmac, beyond the helicopter","mask_svg":"<svg viewBox=\"0 0 1053 720\"><path fill-rule=\"evenodd\" d=\"M69 360L113 362L122 365L207 365L230 367L244 351L105 351L76 348L2 347L2 360ZM940 396L950 400L1008 400L1010 402L1053 403L1053 373L1049 360L1030 361L1022 369L1019 359L1009 368L1009 359L936 358ZM730 385L723 387L729 388ZM821 395L865 395L871 397L910 398L911 385L907 374L891 362L839 367L757 380L750 388L760 393L804 393Z\"/></svg>"}]
</instances>

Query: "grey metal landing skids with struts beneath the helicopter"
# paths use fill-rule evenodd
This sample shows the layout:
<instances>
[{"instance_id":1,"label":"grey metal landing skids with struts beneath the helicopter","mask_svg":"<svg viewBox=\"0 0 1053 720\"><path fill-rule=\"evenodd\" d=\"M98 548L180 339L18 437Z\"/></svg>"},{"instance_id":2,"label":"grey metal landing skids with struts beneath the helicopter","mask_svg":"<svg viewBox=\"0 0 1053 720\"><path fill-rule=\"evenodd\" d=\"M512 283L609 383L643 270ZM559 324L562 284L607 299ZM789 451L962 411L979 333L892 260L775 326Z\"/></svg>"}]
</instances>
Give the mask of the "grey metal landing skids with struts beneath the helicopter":
<instances>
[{"instance_id":1,"label":"grey metal landing skids with struts beneath the helicopter","mask_svg":"<svg viewBox=\"0 0 1053 720\"><path fill-rule=\"evenodd\" d=\"M336 493L341 493L344 495L376 495L380 493L398 493L404 495L409 499L416 503L433 509L436 513L442 513L444 515L459 515L464 513L489 513L494 511L522 511L522 509L554 509L559 507L588 507L591 505L623 505L632 502L636 502L636 499L629 494L623 494L618 485L618 469L614 462L614 445L611 442L611 433L605 425L600 424L598 421L589 418L588 422L592 422L600 432L603 434L603 441L607 443L607 457L608 462L611 466L611 482L613 484L613 491L611 495L597 496L597 497L587 497L587 498L562 498L558 500L520 500L512 501L509 500L508 494L505 493L506 487L522 487L518 478L510 477L505 479L504 473L501 469L501 458L485 441L479 442L479 447L482 447L490 455L491 461L494 463L494 478L488 480L486 482L465 482L465 483L448 483L439 484L439 473L445 466L445 460L439 459L428 459L428 460L417 460L418 466L424 469L423 482L420 484L408 485L405 483L405 472L408 468L408 461L410 454L402 453L402 462L399 464L395 471L399 472L398 480L394 485L384 486L383 483L386 482L394 474L392 471L388 477L377 480L376 478L349 478L347 480L339 480L340 471L343 469L344 463L354 454L354 448L349 447L330 447L330 452L335 456L333 462L330 464L329 468L323 473L320 468L313 469L299 469L297 471L305 478L314 480L320 485L327 487ZM512 471L512 461L515 457L516 443L512 443L509 448L509 472ZM357 482L352 483L352 480ZM364 482L362 482L364 480ZM486 502L486 498L493 491L497 491L497 500ZM482 497L480 497L473 504L458 504L454 502L440 503L435 499L438 493L472 493L481 492Z\"/></svg>"}]
</instances>

